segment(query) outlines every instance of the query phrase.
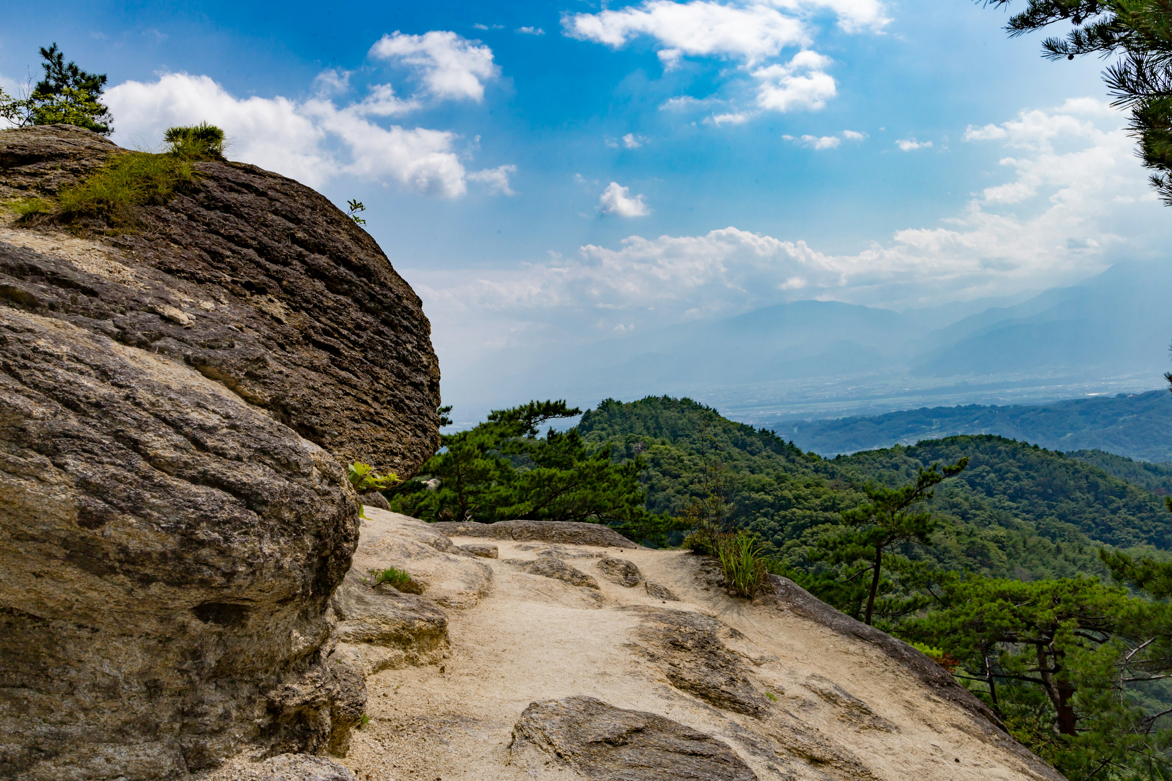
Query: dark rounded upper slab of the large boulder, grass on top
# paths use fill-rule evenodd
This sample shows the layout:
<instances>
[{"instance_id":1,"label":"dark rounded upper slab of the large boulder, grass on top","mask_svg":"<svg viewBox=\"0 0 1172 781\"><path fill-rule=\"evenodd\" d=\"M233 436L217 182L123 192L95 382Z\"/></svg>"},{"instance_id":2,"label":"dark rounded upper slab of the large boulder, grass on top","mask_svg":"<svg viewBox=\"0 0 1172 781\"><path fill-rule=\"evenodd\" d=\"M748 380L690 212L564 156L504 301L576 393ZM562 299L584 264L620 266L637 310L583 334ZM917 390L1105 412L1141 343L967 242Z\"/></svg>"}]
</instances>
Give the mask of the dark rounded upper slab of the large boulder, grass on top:
<instances>
[{"instance_id":1,"label":"dark rounded upper slab of the large boulder, grass on top","mask_svg":"<svg viewBox=\"0 0 1172 781\"><path fill-rule=\"evenodd\" d=\"M0 199L54 194L117 153L70 125L0 131ZM343 463L414 474L440 445L418 296L313 190L241 163L196 169L198 185L143 207L139 229L95 235L104 262L0 254L0 297L172 357Z\"/></svg>"}]
</instances>

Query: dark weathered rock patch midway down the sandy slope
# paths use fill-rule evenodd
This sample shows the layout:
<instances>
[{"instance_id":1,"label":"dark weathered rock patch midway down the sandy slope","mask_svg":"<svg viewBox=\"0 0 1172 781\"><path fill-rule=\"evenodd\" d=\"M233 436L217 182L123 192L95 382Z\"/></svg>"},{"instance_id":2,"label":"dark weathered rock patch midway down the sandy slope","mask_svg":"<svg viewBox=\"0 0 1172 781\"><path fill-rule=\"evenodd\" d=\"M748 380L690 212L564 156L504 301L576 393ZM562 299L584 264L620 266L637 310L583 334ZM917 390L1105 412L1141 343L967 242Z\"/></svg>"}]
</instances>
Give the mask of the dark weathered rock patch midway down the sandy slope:
<instances>
[{"instance_id":1,"label":"dark weathered rock patch midway down the sandy slope","mask_svg":"<svg viewBox=\"0 0 1172 781\"><path fill-rule=\"evenodd\" d=\"M741 636L737 630L699 612L643 607L628 610L642 618L635 650L673 686L736 713L768 713L769 700L752 685L741 657L721 639L722 635Z\"/></svg>"}]
</instances>

